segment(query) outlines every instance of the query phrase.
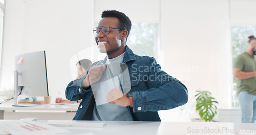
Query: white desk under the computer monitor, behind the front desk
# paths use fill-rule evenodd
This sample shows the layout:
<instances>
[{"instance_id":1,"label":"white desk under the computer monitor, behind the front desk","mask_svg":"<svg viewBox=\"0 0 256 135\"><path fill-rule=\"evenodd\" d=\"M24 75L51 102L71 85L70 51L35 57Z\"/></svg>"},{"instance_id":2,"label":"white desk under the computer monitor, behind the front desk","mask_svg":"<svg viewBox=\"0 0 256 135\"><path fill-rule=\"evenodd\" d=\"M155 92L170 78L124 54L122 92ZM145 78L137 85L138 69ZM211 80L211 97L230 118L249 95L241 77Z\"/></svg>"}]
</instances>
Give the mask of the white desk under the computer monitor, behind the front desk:
<instances>
[{"instance_id":1,"label":"white desk under the computer monitor, behind the front desk","mask_svg":"<svg viewBox=\"0 0 256 135\"><path fill-rule=\"evenodd\" d=\"M43 104L30 107L12 106L13 101L0 104L0 117L2 120L19 120L33 117L39 120L72 120L78 105L52 105Z\"/></svg>"}]
</instances>

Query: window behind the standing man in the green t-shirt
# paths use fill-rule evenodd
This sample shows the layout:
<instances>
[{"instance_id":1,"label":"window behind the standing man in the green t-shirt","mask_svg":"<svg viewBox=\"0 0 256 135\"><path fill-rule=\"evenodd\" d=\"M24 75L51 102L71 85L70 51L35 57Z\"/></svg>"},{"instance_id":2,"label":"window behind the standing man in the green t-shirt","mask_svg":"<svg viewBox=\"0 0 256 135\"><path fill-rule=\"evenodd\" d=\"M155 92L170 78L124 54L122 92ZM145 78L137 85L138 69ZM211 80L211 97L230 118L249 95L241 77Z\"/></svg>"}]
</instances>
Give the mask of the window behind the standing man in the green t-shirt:
<instances>
[{"instance_id":1,"label":"window behind the standing man in the green t-shirt","mask_svg":"<svg viewBox=\"0 0 256 135\"><path fill-rule=\"evenodd\" d=\"M250 35L256 37L256 26L231 26L231 47L232 47L232 61L245 52L248 47L247 41ZM237 99L237 79L233 78L233 106L239 106Z\"/></svg>"}]
</instances>

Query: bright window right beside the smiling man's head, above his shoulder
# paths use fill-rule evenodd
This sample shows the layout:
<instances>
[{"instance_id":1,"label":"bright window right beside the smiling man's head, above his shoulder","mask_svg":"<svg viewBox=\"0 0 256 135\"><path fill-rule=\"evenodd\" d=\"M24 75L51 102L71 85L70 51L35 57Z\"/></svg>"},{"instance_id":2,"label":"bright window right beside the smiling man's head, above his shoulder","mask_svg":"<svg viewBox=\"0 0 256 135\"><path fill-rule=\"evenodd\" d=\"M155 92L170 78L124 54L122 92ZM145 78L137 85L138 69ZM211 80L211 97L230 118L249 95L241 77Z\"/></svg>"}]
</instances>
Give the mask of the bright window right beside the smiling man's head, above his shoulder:
<instances>
[{"instance_id":1,"label":"bright window right beside the smiling man's head, above his shoulder","mask_svg":"<svg viewBox=\"0 0 256 135\"><path fill-rule=\"evenodd\" d=\"M133 22L127 45L140 56L157 56L158 25Z\"/></svg>"}]
</instances>

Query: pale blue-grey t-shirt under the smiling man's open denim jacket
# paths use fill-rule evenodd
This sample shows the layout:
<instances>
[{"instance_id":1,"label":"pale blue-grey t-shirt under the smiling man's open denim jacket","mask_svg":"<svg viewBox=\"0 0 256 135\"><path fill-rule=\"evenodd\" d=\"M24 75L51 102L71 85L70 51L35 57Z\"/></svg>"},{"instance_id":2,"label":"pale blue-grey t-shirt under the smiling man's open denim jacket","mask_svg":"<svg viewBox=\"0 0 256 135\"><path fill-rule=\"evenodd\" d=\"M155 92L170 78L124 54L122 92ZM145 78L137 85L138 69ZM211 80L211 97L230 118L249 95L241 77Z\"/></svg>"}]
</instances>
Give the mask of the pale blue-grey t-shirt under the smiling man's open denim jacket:
<instances>
[{"instance_id":1,"label":"pale blue-grey t-shirt under the smiling man's open denim jacket","mask_svg":"<svg viewBox=\"0 0 256 135\"><path fill-rule=\"evenodd\" d=\"M127 107L117 104L110 104L106 101L106 95L113 89L121 91L122 77L120 63L123 61L124 53L113 59L106 59L106 69L102 74L102 81L98 85L92 85L95 106L93 110L93 120L102 121L133 121L131 113Z\"/></svg>"}]
</instances>

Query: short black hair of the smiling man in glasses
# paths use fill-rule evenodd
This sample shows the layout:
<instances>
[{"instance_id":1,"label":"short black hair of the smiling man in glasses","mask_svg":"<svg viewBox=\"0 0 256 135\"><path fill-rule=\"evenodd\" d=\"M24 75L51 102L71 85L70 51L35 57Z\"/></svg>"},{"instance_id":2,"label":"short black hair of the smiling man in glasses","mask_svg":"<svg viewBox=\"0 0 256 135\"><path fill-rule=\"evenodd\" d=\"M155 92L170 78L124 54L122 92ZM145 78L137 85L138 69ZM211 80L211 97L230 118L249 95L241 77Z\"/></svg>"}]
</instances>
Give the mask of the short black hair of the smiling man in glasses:
<instances>
[{"instance_id":1,"label":"short black hair of the smiling man in glasses","mask_svg":"<svg viewBox=\"0 0 256 135\"><path fill-rule=\"evenodd\" d=\"M101 18L103 17L117 17L119 20L119 32L122 30L128 31L127 38L130 34L130 31L132 29L132 21L128 16L126 16L124 13L116 11L116 10L105 10L101 14Z\"/></svg>"}]
</instances>

